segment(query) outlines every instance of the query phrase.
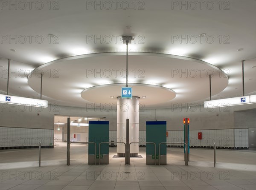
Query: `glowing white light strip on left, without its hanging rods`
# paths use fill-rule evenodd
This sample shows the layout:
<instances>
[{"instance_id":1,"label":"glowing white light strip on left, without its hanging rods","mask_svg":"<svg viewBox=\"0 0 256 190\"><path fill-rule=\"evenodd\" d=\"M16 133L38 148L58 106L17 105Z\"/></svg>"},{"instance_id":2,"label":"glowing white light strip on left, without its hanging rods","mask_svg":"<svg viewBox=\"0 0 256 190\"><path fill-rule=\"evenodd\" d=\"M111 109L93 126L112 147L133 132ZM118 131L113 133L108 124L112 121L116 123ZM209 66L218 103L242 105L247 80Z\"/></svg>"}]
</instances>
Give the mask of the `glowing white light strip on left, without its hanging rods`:
<instances>
[{"instance_id":1,"label":"glowing white light strip on left, without its hanging rods","mask_svg":"<svg viewBox=\"0 0 256 190\"><path fill-rule=\"evenodd\" d=\"M7 104L16 104L16 105L26 105L26 106L35 106L35 107L48 107L48 101L42 99L33 99L33 98L23 98L19 96L10 96L5 94L0 94L0 102Z\"/></svg>"}]
</instances>

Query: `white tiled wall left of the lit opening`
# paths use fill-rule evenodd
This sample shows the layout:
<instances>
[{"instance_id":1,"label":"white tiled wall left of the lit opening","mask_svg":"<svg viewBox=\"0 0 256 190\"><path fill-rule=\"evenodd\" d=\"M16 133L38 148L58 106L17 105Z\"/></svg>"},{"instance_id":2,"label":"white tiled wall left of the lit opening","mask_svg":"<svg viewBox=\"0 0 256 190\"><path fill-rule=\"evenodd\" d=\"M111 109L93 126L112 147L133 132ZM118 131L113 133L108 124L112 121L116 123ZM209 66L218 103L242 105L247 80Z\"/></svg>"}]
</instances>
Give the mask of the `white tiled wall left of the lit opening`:
<instances>
[{"instance_id":1,"label":"white tiled wall left of the lit opening","mask_svg":"<svg viewBox=\"0 0 256 190\"><path fill-rule=\"evenodd\" d=\"M53 129L0 127L0 147L53 145Z\"/></svg>"}]
</instances>

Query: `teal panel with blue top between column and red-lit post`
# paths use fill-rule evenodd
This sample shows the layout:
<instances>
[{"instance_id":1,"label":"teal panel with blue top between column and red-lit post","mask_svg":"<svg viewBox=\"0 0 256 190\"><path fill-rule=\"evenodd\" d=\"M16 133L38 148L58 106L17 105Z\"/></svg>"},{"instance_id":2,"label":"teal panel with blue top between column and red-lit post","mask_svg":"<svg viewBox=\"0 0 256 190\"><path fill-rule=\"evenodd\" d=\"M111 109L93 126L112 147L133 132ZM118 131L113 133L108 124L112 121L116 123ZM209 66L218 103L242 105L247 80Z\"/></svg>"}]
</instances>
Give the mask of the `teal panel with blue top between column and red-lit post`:
<instances>
[{"instance_id":1,"label":"teal panel with blue top between column and red-lit post","mask_svg":"<svg viewBox=\"0 0 256 190\"><path fill-rule=\"evenodd\" d=\"M156 155L154 155L154 144L146 144L146 164L154 164L155 156L158 164L161 156L160 164L166 165L166 144L160 145L160 155L158 155L159 143L166 142L166 121L146 122L146 142L156 144Z\"/></svg>"}]
</instances>

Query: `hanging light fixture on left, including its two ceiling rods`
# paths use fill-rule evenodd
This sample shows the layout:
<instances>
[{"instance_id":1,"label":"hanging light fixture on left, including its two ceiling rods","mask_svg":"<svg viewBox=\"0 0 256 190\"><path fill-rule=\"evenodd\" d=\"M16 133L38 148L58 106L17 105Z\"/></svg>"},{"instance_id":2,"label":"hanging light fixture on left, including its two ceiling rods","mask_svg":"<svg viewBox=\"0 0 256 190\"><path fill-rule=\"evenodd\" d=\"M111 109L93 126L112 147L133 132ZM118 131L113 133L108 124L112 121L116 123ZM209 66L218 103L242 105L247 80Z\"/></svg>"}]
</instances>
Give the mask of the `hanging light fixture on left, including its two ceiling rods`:
<instances>
[{"instance_id":1,"label":"hanging light fixture on left, including its two ceiling rods","mask_svg":"<svg viewBox=\"0 0 256 190\"><path fill-rule=\"evenodd\" d=\"M33 98L23 98L19 96L10 96L9 95L9 77L10 76L10 59L8 59L8 77L7 77L7 91L5 94L0 94L0 102L6 104L16 104L16 105L26 105L26 106L35 106L35 107L48 107L48 101L42 100L42 84L43 84L43 74L41 74L41 99Z\"/></svg>"}]
</instances>

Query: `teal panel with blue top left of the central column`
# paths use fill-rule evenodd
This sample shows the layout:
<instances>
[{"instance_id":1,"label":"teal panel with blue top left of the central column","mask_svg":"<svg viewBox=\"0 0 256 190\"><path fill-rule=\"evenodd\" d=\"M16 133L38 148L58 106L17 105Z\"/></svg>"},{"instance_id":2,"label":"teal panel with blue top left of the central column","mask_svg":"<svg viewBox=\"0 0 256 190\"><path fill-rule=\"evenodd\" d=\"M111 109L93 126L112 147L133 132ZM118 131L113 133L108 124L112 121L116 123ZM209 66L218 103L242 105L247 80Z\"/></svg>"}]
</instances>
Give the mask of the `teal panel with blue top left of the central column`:
<instances>
[{"instance_id":1,"label":"teal panel with blue top left of the central column","mask_svg":"<svg viewBox=\"0 0 256 190\"><path fill-rule=\"evenodd\" d=\"M108 121L89 121L89 134L88 142L95 142L97 146L97 152L95 153L95 145L89 143L88 150L88 164L108 164L108 155L109 155L109 145L108 143L102 143L100 146L99 154L99 143L100 142L109 142L109 122Z\"/></svg>"}]
</instances>

